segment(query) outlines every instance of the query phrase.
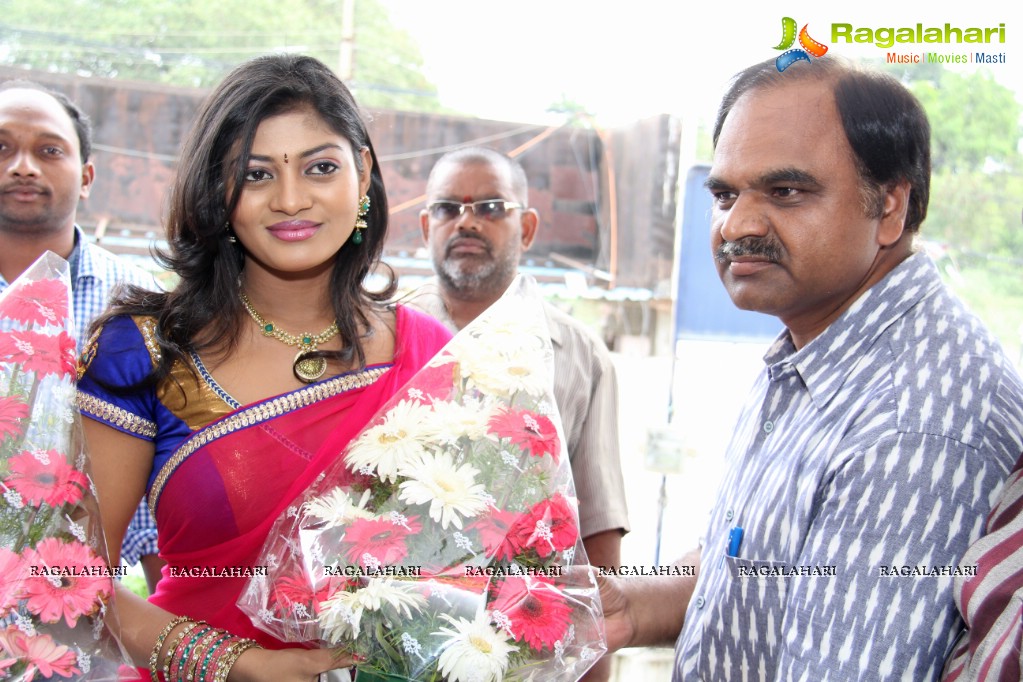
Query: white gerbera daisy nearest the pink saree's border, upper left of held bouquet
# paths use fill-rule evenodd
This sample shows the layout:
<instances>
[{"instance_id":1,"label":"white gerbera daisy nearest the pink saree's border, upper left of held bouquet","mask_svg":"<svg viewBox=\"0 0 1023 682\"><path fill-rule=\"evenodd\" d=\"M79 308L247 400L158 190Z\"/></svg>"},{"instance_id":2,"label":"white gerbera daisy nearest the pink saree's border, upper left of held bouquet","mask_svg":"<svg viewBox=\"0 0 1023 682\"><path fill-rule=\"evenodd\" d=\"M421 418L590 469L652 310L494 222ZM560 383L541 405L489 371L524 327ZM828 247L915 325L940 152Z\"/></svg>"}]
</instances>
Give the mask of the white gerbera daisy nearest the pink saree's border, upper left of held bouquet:
<instances>
[{"instance_id":1,"label":"white gerbera daisy nearest the pink saree's border, upper left of held bouquet","mask_svg":"<svg viewBox=\"0 0 1023 682\"><path fill-rule=\"evenodd\" d=\"M394 482L402 466L426 452L429 439L430 407L403 400L392 407L384 422L359 437L345 455L348 467L376 471L384 481Z\"/></svg>"}]
</instances>

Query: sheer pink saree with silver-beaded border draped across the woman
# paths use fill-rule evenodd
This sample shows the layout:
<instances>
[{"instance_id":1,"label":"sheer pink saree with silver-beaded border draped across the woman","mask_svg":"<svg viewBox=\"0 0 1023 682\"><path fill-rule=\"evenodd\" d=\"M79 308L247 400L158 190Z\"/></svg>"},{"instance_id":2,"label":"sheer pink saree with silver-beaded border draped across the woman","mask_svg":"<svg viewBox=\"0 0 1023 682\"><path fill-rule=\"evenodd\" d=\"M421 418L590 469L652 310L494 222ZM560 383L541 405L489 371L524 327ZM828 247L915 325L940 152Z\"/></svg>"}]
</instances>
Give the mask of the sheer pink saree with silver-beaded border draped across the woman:
<instances>
[{"instance_id":1,"label":"sheer pink saree with silver-beaded border draped across the woman","mask_svg":"<svg viewBox=\"0 0 1023 682\"><path fill-rule=\"evenodd\" d=\"M149 492L164 577L149 601L268 648L294 646L257 629L235 602L270 528L376 410L450 334L398 307L393 364L246 405L194 433Z\"/></svg>"}]
</instances>

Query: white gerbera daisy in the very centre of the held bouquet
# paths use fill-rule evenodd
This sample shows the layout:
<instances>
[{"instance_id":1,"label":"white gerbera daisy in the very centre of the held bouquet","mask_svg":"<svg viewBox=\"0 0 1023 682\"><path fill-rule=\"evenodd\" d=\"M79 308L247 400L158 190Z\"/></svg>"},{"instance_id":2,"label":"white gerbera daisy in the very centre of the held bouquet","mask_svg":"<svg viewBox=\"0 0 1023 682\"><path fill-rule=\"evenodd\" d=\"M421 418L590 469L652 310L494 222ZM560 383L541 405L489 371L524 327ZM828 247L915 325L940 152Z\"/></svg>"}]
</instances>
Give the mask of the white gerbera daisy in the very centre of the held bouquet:
<instances>
[{"instance_id":1,"label":"white gerbera daisy in the very centre of the held bouquet","mask_svg":"<svg viewBox=\"0 0 1023 682\"><path fill-rule=\"evenodd\" d=\"M486 488L476 482L479 471L458 466L451 455L428 455L402 471L408 481L398 487L398 497L409 504L429 504L430 517L441 528L461 529L461 516L472 517L487 508Z\"/></svg>"}]
</instances>

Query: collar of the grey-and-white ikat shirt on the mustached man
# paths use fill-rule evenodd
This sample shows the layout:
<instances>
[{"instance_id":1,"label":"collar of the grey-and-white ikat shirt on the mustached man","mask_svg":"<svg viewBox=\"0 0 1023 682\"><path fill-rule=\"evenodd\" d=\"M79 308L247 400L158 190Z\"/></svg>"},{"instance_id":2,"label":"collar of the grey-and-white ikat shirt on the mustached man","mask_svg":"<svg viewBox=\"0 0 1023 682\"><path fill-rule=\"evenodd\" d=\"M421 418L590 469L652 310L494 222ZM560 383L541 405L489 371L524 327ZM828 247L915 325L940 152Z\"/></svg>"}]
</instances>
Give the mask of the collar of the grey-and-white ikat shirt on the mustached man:
<instances>
[{"instance_id":1,"label":"collar of the grey-and-white ikat shirt on the mustached man","mask_svg":"<svg viewBox=\"0 0 1023 682\"><path fill-rule=\"evenodd\" d=\"M888 327L941 286L934 262L923 252L914 254L800 350L789 331L783 331L764 355L769 379L797 372L814 404L824 408Z\"/></svg>"}]
</instances>

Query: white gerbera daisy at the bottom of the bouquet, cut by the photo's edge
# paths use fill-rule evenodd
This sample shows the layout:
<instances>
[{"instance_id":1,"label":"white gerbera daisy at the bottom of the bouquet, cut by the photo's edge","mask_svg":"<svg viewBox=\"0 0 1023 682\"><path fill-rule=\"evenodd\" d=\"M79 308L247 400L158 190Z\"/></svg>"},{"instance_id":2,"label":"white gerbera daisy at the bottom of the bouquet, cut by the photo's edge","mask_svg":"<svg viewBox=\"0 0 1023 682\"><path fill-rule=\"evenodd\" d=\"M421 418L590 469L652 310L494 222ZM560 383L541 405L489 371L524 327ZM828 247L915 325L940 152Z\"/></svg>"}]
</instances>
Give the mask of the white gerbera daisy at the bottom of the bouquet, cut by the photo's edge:
<instances>
[{"instance_id":1,"label":"white gerbera daisy at the bottom of the bouquet, cut by the photo's edge","mask_svg":"<svg viewBox=\"0 0 1023 682\"><path fill-rule=\"evenodd\" d=\"M448 682L500 682L508 666L508 654L516 650L508 637L495 630L486 611L477 613L472 621L442 613L441 618L452 625L441 628L435 635L444 637L441 674Z\"/></svg>"}]
</instances>

